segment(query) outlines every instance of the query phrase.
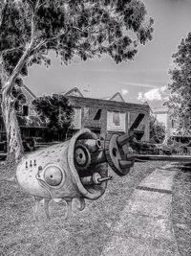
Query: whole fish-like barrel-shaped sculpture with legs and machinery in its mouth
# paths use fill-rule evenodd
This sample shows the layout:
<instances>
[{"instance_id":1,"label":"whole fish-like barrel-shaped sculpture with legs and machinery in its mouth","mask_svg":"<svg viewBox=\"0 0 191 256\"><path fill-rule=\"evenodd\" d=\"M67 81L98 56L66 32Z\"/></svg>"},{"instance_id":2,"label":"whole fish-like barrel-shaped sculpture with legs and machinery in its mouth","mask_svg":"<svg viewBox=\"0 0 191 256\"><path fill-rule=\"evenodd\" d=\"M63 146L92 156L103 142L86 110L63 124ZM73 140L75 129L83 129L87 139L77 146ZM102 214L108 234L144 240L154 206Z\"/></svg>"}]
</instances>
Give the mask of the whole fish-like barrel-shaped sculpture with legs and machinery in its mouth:
<instances>
[{"instance_id":1,"label":"whole fish-like barrel-shaped sculpture with legs and machinery in its mouth","mask_svg":"<svg viewBox=\"0 0 191 256\"><path fill-rule=\"evenodd\" d=\"M89 129L82 129L71 140L24 156L17 167L16 179L34 198L35 218L42 199L49 219L51 199L66 201L66 217L69 217L73 198L78 198L79 210L85 208L85 198L100 198L107 181L112 179L108 164L117 175L127 175L133 166L134 160L126 160L126 142L123 135L112 134L100 140Z\"/></svg>"}]
</instances>

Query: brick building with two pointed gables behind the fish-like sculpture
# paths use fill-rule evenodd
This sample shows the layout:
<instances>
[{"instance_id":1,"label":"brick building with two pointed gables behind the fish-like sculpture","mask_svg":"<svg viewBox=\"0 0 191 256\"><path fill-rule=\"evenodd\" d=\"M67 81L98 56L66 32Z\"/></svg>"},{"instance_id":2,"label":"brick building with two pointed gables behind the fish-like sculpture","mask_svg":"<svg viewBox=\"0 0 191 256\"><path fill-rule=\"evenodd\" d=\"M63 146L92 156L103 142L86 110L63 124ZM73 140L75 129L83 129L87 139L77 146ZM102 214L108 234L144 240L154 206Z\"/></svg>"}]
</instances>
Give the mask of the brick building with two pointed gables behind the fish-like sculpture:
<instances>
[{"instance_id":1,"label":"brick building with two pointed gables behind the fish-like sculpture","mask_svg":"<svg viewBox=\"0 0 191 256\"><path fill-rule=\"evenodd\" d=\"M142 114L135 132L138 139L149 140L149 105L125 103L119 92L107 99L86 98L77 87L62 94L74 105L72 133L80 128L90 128L103 137L107 132L127 132Z\"/></svg>"}]
</instances>

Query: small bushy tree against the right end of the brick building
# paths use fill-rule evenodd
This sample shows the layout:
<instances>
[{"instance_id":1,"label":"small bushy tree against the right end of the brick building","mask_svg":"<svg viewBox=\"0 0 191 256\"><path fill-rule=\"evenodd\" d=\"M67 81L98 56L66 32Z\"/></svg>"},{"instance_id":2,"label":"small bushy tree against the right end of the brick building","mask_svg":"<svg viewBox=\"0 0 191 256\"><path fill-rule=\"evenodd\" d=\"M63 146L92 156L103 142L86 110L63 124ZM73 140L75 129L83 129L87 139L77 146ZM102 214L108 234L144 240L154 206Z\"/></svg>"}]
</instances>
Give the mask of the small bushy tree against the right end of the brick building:
<instances>
[{"instance_id":1,"label":"small bushy tree against the right end of the brick building","mask_svg":"<svg viewBox=\"0 0 191 256\"><path fill-rule=\"evenodd\" d=\"M153 143L162 143L165 138L165 127L159 123L154 115L150 116L150 140Z\"/></svg>"}]
</instances>

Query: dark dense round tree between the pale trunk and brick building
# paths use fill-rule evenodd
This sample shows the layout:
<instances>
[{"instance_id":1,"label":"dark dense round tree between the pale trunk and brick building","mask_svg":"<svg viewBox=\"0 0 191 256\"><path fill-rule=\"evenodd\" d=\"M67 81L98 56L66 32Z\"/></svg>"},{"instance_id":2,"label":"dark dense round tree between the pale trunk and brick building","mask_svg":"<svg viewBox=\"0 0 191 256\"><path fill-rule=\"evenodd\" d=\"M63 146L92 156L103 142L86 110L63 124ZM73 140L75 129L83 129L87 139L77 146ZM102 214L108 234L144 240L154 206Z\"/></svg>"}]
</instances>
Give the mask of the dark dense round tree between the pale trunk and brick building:
<instances>
[{"instance_id":1,"label":"dark dense round tree between the pale trunk and brick building","mask_svg":"<svg viewBox=\"0 0 191 256\"><path fill-rule=\"evenodd\" d=\"M58 133L59 139L66 138L66 133L72 125L74 106L63 95L38 97L32 101L32 105L47 127Z\"/></svg>"}]
</instances>

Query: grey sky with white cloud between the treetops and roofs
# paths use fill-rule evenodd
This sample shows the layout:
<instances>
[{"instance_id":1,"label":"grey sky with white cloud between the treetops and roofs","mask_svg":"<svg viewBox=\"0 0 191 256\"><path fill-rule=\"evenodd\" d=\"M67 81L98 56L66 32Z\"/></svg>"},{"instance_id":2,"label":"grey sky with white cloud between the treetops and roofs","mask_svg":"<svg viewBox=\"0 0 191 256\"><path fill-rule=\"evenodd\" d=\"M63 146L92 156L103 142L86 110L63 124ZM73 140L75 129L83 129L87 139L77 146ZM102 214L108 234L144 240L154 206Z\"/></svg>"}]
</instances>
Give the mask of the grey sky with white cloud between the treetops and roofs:
<instances>
[{"instance_id":1,"label":"grey sky with white cloud between the treetops and roofs","mask_svg":"<svg viewBox=\"0 0 191 256\"><path fill-rule=\"evenodd\" d=\"M166 100L168 70L182 37L191 32L191 0L142 0L153 17L153 40L138 47L133 61L116 64L111 58L74 60L61 65L52 57L50 68L32 66L25 84L36 96L78 87L85 97L104 99L120 92L128 103L147 101L160 107Z\"/></svg>"}]
</instances>

